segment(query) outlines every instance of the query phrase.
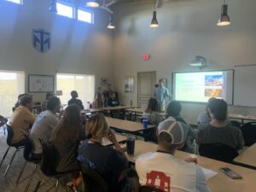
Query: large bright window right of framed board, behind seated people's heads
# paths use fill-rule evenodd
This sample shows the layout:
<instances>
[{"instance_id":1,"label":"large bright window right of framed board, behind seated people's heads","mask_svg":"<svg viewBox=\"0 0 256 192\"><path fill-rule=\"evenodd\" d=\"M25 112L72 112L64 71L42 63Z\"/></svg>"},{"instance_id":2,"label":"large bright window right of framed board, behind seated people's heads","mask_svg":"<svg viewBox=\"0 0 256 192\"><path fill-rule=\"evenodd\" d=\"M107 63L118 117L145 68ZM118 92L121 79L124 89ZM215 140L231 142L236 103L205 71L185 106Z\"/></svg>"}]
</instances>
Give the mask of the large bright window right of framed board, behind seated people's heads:
<instances>
[{"instance_id":1,"label":"large bright window right of framed board, behind seated people's heads","mask_svg":"<svg viewBox=\"0 0 256 192\"><path fill-rule=\"evenodd\" d=\"M71 99L70 92L77 90L79 99L82 100L84 108L86 108L86 102L94 100L95 77L94 75L58 73L57 90L62 90L62 96L60 96L62 104L67 104Z\"/></svg>"}]
</instances>

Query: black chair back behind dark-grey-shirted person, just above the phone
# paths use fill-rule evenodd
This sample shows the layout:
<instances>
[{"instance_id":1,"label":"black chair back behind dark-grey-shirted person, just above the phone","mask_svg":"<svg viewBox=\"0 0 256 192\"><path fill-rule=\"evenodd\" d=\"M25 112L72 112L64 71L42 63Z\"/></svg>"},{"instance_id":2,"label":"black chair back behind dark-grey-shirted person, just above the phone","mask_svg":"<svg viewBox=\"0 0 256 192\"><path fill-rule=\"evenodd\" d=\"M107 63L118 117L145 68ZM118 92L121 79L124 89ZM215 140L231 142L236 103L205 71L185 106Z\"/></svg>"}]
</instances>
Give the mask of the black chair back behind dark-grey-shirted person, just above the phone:
<instances>
[{"instance_id":1,"label":"black chair back behind dark-grey-shirted person, just above the phone","mask_svg":"<svg viewBox=\"0 0 256 192\"><path fill-rule=\"evenodd\" d=\"M221 160L231 163L237 154L235 148L222 143L207 143L199 146L199 154L214 160Z\"/></svg>"}]
</instances>

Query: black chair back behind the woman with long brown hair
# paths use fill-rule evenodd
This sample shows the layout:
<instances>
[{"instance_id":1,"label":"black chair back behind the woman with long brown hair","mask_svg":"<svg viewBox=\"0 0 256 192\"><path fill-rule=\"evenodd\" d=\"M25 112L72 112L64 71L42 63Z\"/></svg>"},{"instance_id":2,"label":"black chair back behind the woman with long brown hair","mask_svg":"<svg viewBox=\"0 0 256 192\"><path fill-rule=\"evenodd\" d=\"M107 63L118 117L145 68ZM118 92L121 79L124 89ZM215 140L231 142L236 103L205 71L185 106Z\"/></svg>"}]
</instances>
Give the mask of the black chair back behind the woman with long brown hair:
<instances>
[{"instance_id":1,"label":"black chair back behind the woman with long brown hair","mask_svg":"<svg viewBox=\"0 0 256 192\"><path fill-rule=\"evenodd\" d=\"M56 149L52 143L44 143L40 140L42 144L42 160L41 160L41 172L46 176L54 176L56 173L57 157Z\"/></svg>"}]
</instances>

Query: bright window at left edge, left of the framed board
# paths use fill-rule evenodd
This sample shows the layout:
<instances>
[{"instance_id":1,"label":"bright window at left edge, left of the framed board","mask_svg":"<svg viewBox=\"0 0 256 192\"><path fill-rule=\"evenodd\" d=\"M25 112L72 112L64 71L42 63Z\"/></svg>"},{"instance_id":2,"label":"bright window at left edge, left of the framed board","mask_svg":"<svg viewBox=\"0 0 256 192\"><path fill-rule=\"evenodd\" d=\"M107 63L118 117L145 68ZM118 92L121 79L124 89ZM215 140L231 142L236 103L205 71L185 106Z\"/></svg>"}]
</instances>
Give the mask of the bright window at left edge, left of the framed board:
<instances>
[{"instance_id":1,"label":"bright window at left edge, left of the framed board","mask_svg":"<svg viewBox=\"0 0 256 192\"><path fill-rule=\"evenodd\" d=\"M24 72L0 71L0 114L9 117L18 95L25 93Z\"/></svg>"}]
</instances>

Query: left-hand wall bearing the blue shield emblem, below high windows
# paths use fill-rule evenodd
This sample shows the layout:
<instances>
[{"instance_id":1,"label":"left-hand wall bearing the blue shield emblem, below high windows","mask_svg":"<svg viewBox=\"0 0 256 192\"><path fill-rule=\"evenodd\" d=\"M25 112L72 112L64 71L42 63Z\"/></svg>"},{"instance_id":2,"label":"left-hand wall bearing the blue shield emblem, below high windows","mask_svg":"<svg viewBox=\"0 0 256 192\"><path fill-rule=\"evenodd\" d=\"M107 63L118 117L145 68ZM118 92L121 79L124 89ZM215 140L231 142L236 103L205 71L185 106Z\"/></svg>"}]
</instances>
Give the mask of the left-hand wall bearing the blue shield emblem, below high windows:
<instances>
[{"instance_id":1,"label":"left-hand wall bearing the blue shield emblem, below high windows","mask_svg":"<svg viewBox=\"0 0 256 192\"><path fill-rule=\"evenodd\" d=\"M0 3L0 70L27 74L95 74L111 78L112 32L106 29L108 15L96 10L95 25L50 14L49 1L24 0L23 5ZM51 32L51 49L46 54L32 47L32 29ZM104 88L103 88L104 89ZM26 78L27 91L27 78ZM44 94L33 94L36 101Z\"/></svg>"}]
</instances>

